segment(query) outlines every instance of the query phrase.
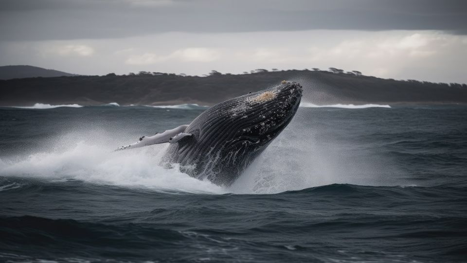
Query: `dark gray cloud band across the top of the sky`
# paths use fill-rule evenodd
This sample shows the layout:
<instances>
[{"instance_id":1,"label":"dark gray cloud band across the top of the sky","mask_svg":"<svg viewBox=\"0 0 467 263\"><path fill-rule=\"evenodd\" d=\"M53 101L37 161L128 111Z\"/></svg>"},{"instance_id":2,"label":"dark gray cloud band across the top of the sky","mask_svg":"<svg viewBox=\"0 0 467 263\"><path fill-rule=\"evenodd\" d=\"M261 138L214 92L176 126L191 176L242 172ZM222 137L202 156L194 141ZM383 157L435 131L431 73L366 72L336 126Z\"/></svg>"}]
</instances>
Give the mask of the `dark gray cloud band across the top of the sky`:
<instances>
[{"instance_id":1,"label":"dark gray cloud band across the top of the sky","mask_svg":"<svg viewBox=\"0 0 467 263\"><path fill-rule=\"evenodd\" d=\"M0 0L0 6L0 40L315 29L467 34L465 0Z\"/></svg>"}]
</instances>

